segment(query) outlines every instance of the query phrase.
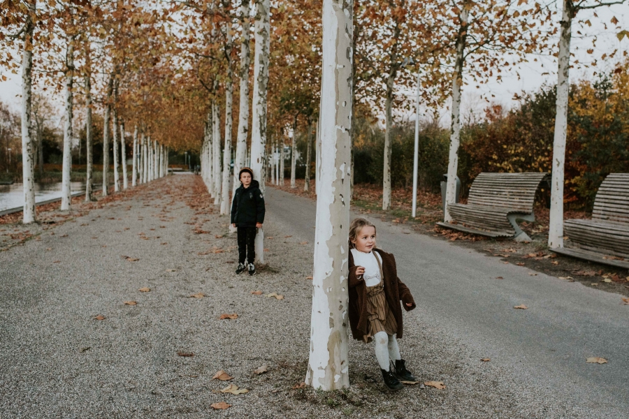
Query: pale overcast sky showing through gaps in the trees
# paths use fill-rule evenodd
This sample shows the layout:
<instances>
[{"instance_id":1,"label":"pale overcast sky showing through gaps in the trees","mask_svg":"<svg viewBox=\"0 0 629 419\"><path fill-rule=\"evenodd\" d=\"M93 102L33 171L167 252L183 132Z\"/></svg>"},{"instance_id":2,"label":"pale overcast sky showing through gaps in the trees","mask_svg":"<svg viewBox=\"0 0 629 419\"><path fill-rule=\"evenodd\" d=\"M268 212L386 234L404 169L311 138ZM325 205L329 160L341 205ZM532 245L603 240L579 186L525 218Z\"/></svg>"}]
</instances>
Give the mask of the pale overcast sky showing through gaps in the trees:
<instances>
[{"instance_id":1,"label":"pale overcast sky showing through gaps in the trees","mask_svg":"<svg viewBox=\"0 0 629 419\"><path fill-rule=\"evenodd\" d=\"M572 25L572 57L571 62L575 59L579 59L581 63L589 63L593 57L600 57L603 53L611 53L618 49L619 53L616 54L614 59L607 59L605 62L598 62L598 66L590 68L572 68L570 72L570 78L572 81L587 78L593 79L593 74L600 71L610 71L613 69L618 61L622 57L622 52L629 52L629 39L624 38L623 41L619 41L616 38L616 31L614 31L613 25L610 24L612 17L616 17L621 24L624 24L624 29L629 30L629 3L615 5L612 7L604 7L596 10L598 17L593 16L592 10L581 10L578 15L578 20L591 20L592 27L581 28L576 22ZM604 23L607 24L608 29L605 30ZM577 35L577 30L581 30L584 36ZM591 48L592 39L596 36L598 41L596 43L594 54L590 55L586 53L586 50ZM273 48L273 45L271 45ZM481 96L495 95L493 101L500 103L505 108L510 108L514 104L512 100L514 94L519 94L521 91L535 91L540 88L544 83L556 84L556 60L554 57L537 57L538 61L533 62L533 58L528 57L530 62L523 64L519 68L520 78L517 77L516 71L510 71L509 73L503 73L503 81L497 82L495 79L489 80L487 84L484 84L480 89L476 89L475 86L465 86L463 88L463 115L469 114L470 111L481 112L486 106L486 102L481 99ZM548 73L548 74L544 74ZM0 100L4 103L8 103L10 108L17 110L20 104L20 91L21 80L20 75L13 75L3 72L8 77L6 82L0 82ZM58 96L61 96L59 94ZM57 99L57 98L55 98ZM61 103L61 98L55 100L58 104ZM61 106L58 105L61 109ZM442 112L442 124L447 124L449 121L449 115L447 111Z\"/></svg>"}]
</instances>

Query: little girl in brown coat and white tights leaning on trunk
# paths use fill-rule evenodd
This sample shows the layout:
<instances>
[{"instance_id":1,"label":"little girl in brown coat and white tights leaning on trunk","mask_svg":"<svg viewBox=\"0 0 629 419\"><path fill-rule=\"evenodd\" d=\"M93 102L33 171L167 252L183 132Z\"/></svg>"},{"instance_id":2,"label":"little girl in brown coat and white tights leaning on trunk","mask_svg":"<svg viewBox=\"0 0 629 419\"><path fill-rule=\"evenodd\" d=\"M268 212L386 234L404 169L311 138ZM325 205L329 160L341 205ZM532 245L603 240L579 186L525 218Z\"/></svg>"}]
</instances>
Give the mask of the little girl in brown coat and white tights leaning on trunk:
<instances>
[{"instance_id":1,"label":"little girl in brown coat and white tights leaning on trunk","mask_svg":"<svg viewBox=\"0 0 629 419\"><path fill-rule=\"evenodd\" d=\"M396 259L375 247L375 226L355 219L349 226L349 325L352 336L366 343L375 340L375 353L384 384L391 391L401 381L416 381L400 356L397 337L402 337L402 309L415 308L413 296L398 278ZM395 365L391 371L391 362Z\"/></svg>"}]
</instances>

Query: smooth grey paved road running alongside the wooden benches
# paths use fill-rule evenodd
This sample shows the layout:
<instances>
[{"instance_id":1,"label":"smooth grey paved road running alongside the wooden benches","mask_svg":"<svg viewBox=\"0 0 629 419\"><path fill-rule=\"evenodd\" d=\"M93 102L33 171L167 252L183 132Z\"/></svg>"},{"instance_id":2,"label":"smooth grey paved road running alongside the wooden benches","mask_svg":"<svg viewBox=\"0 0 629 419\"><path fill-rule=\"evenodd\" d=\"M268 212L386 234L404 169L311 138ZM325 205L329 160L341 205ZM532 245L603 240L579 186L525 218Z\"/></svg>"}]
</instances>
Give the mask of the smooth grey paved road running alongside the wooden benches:
<instances>
[{"instance_id":1,"label":"smooth grey paved road running alongside the wooden benches","mask_svg":"<svg viewBox=\"0 0 629 419\"><path fill-rule=\"evenodd\" d=\"M314 241L312 200L268 188L266 204L270 219ZM629 306L619 295L531 276L500 258L371 221L379 247L396 256L427 330L491 358L512 374L515 388L545 389L549 406L561 400L582 417L629 416ZM519 304L528 309L512 308ZM609 363L586 363L593 356Z\"/></svg>"}]
</instances>

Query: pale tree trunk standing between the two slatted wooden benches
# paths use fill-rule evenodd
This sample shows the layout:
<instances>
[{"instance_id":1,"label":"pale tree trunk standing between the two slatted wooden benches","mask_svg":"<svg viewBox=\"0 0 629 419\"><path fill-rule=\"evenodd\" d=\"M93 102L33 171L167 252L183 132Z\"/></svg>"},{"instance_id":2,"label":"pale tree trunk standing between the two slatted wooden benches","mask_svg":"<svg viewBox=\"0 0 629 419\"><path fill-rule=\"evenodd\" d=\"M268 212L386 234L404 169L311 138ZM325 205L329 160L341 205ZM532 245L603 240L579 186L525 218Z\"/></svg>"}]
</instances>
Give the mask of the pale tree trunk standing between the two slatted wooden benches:
<instances>
[{"instance_id":1,"label":"pale tree trunk standing between the two slatted wooden benches","mask_svg":"<svg viewBox=\"0 0 629 419\"><path fill-rule=\"evenodd\" d=\"M553 140L553 166L551 179L551 209L548 229L548 247L563 247L563 176L565 165L565 137L567 133L567 105L570 93L570 38L574 10L571 0L563 0L561 35L559 37L559 68L555 135Z\"/></svg>"}]
</instances>

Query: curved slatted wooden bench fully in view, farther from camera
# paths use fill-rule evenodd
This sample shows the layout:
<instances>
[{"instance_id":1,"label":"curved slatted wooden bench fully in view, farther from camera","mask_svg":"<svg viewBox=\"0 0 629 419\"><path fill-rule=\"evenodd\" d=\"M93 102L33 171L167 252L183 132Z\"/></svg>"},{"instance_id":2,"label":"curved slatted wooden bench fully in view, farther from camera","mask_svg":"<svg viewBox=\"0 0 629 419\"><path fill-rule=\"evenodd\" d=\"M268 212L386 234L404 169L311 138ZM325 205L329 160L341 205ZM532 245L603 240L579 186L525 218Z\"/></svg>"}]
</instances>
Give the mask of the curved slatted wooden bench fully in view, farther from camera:
<instances>
[{"instance_id":1,"label":"curved slatted wooden bench fully in view, farther from camera","mask_svg":"<svg viewBox=\"0 0 629 419\"><path fill-rule=\"evenodd\" d=\"M465 233L530 241L516 220L535 221L535 193L547 176L546 172L481 173L472 183L467 205L447 205L454 223L437 224Z\"/></svg>"}]
</instances>

